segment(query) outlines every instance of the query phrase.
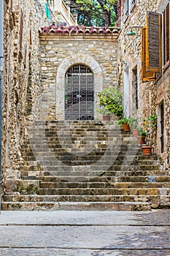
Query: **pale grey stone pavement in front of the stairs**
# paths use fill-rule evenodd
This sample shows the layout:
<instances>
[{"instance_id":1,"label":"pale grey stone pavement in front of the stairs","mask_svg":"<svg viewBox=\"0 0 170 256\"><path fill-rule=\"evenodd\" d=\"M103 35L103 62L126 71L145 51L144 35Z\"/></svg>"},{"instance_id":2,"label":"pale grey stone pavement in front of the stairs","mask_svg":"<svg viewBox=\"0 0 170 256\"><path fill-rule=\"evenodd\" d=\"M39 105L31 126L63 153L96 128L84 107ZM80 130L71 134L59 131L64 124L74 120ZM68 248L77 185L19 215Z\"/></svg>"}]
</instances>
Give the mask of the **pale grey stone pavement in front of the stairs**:
<instances>
[{"instance_id":1,"label":"pale grey stone pavement in front of the stairs","mask_svg":"<svg viewBox=\"0 0 170 256\"><path fill-rule=\"evenodd\" d=\"M170 256L170 210L1 211L2 256Z\"/></svg>"}]
</instances>

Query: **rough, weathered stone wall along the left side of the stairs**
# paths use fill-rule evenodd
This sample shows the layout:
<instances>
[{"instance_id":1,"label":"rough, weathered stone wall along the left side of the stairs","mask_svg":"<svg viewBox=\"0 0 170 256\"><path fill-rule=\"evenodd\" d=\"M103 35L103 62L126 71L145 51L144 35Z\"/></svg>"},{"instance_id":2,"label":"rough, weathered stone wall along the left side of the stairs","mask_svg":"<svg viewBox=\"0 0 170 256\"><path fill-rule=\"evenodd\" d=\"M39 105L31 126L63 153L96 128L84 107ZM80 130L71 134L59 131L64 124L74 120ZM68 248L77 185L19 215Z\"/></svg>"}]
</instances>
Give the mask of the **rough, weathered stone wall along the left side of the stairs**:
<instances>
[{"instance_id":1,"label":"rough, weathered stone wall along the left side of the stairs","mask_svg":"<svg viewBox=\"0 0 170 256\"><path fill-rule=\"evenodd\" d=\"M39 29L43 25L38 0L4 0L3 178L7 170L17 170L22 163L20 146L27 133L26 121L38 110Z\"/></svg>"}]
</instances>

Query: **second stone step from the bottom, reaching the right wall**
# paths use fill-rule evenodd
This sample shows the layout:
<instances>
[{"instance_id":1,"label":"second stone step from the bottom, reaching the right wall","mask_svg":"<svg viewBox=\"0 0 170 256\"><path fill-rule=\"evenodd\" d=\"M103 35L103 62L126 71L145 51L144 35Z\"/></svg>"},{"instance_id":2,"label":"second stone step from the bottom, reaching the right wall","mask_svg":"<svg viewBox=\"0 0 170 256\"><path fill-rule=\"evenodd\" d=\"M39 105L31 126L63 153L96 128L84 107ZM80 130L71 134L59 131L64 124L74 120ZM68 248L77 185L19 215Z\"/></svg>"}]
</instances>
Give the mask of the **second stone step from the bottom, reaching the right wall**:
<instances>
[{"instance_id":1,"label":"second stone step from the bottom, reaching the right wall","mask_svg":"<svg viewBox=\"0 0 170 256\"><path fill-rule=\"evenodd\" d=\"M4 195L4 201L1 203L2 210L23 210L20 206L28 206L31 203L35 206L36 203L45 203L49 206L53 203L150 203L152 208L169 207L169 195ZM53 210L53 207L49 207ZM29 210L28 207L25 210ZM32 208L35 210L35 208ZM39 210L41 210L39 208ZM81 210L81 208L80 208ZM101 209L101 210L104 210ZM125 208L123 208L123 211Z\"/></svg>"}]
</instances>

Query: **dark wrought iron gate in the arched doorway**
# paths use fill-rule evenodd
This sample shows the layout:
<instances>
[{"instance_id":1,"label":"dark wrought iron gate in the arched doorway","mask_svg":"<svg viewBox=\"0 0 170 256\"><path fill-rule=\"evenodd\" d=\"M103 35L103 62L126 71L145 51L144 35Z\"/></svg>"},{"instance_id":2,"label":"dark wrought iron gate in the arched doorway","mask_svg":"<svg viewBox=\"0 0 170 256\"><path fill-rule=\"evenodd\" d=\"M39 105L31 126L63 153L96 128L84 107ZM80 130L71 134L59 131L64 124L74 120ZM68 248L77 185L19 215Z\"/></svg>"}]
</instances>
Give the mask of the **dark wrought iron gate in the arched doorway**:
<instances>
[{"instance_id":1,"label":"dark wrought iron gate in the arched doorway","mask_svg":"<svg viewBox=\"0 0 170 256\"><path fill-rule=\"evenodd\" d=\"M66 120L93 120L93 72L86 66L75 65L66 72Z\"/></svg>"}]
</instances>

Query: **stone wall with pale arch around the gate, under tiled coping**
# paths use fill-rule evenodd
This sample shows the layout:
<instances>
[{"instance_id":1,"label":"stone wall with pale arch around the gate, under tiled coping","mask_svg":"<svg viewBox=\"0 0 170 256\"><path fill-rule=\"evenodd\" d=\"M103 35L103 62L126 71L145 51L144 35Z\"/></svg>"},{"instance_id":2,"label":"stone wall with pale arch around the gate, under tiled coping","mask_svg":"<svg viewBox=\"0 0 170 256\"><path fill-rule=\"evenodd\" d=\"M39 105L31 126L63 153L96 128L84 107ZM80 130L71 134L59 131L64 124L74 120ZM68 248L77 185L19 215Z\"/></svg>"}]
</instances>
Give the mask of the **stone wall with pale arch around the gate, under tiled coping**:
<instances>
[{"instance_id":1,"label":"stone wall with pale arch around the gate, under tiled coping","mask_svg":"<svg viewBox=\"0 0 170 256\"><path fill-rule=\"evenodd\" d=\"M74 64L85 64L93 71L96 103L98 91L119 87L117 34L41 34L43 118L64 118L65 74Z\"/></svg>"}]
</instances>

